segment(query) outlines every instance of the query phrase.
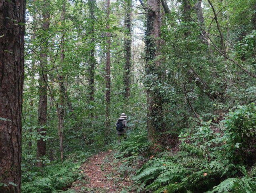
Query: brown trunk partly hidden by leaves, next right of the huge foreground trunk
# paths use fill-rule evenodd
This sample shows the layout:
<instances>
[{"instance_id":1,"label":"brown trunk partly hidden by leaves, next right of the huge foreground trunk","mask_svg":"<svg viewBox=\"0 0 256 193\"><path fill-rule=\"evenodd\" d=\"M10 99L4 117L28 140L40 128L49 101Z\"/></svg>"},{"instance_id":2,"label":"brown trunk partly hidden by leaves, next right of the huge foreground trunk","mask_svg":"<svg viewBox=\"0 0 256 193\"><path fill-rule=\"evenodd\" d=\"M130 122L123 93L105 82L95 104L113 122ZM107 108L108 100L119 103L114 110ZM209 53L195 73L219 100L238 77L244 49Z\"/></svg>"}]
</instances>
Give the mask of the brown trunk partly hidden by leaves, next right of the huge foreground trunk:
<instances>
[{"instance_id":1,"label":"brown trunk partly hidden by leaves, next right of the huge foreground trunk","mask_svg":"<svg viewBox=\"0 0 256 193\"><path fill-rule=\"evenodd\" d=\"M49 1L45 2L45 8L49 8ZM50 14L48 10L43 13L43 24L42 30L47 31L50 27ZM41 46L41 68L39 73L39 104L38 104L38 124L41 126L38 128L38 132L42 136L46 136L46 120L47 120L47 74L44 71L47 67L47 52L48 52L48 41ZM46 141L43 138L37 141L37 152L38 158L46 155ZM42 162L38 162L38 167L43 167Z\"/></svg>"}]
</instances>

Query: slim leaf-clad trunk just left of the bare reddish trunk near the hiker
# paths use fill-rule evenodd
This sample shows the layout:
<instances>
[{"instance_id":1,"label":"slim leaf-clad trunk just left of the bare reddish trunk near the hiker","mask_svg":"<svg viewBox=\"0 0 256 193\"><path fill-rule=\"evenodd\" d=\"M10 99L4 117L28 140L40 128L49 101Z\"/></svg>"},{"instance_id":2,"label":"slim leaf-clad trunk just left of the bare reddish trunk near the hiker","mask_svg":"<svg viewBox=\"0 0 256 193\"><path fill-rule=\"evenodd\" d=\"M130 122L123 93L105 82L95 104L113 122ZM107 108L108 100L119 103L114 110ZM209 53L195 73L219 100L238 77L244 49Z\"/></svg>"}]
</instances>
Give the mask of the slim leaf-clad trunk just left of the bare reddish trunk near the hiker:
<instances>
[{"instance_id":1,"label":"slim leaf-clad trunk just left of the bare reddish trunk near the hiker","mask_svg":"<svg viewBox=\"0 0 256 193\"><path fill-rule=\"evenodd\" d=\"M95 68L95 38L94 38L94 22L95 22L95 8L96 8L96 0L88 0L88 6L89 6L89 12L90 12L90 35L91 35L91 40L90 40L90 45L92 46L92 49L90 50L90 56L89 56L89 90L90 90L90 101L94 101L94 68ZM91 113L91 118L93 118L93 113Z\"/></svg>"}]
</instances>

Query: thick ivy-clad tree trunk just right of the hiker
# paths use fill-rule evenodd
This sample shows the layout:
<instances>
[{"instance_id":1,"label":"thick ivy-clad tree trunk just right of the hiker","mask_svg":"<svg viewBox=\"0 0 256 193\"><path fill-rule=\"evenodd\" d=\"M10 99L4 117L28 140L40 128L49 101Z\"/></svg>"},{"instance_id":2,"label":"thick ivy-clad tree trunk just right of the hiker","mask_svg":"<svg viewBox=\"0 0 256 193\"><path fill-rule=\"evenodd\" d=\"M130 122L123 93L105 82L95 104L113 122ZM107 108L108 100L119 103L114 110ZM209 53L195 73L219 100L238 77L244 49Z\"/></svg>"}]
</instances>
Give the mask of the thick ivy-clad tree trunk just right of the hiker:
<instances>
[{"instance_id":1,"label":"thick ivy-clad tree trunk just right of the hiker","mask_svg":"<svg viewBox=\"0 0 256 193\"><path fill-rule=\"evenodd\" d=\"M150 80L146 81L147 87L147 128L148 140L152 143L151 150L157 152L160 145L159 132L163 131L161 126L162 114L161 98L155 86L161 75L159 72L160 61L155 58L160 55L160 0L148 0L147 28L146 28L146 73Z\"/></svg>"}]
</instances>

